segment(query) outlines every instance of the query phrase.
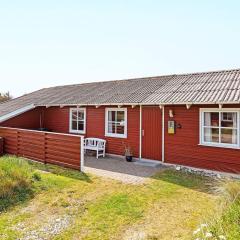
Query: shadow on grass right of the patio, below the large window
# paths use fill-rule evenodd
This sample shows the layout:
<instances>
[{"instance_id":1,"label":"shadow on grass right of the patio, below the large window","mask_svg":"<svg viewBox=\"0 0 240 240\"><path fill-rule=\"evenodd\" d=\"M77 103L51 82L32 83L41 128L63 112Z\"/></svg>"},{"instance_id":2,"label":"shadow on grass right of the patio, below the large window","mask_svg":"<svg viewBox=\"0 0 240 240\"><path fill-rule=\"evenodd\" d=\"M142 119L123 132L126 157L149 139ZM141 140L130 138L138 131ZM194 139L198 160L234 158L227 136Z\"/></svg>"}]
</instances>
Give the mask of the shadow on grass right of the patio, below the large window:
<instances>
[{"instance_id":1,"label":"shadow on grass right of the patio, below the large window","mask_svg":"<svg viewBox=\"0 0 240 240\"><path fill-rule=\"evenodd\" d=\"M210 194L213 193L212 189L216 184L216 180L213 178L173 169L162 170L152 176L152 179Z\"/></svg>"}]
</instances>

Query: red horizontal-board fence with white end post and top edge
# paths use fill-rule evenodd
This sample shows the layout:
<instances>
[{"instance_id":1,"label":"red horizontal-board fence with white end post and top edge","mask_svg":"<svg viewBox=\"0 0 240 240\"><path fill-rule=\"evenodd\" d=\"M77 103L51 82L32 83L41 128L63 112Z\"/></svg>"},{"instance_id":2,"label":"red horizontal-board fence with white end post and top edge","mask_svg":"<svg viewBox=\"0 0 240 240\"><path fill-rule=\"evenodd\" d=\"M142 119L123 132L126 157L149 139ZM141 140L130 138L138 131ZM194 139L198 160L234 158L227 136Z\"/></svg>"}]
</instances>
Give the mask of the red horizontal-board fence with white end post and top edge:
<instances>
[{"instance_id":1,"label":"red horizontal-board fence with white end post and top edge","mask_svg":"<svg viewBox=\"0 0 240 240\"><path fill-rule=\"evenodd\" d=\"M83 170L83 136L0 127L4 153Z\"/></svg>"}]
</instances>

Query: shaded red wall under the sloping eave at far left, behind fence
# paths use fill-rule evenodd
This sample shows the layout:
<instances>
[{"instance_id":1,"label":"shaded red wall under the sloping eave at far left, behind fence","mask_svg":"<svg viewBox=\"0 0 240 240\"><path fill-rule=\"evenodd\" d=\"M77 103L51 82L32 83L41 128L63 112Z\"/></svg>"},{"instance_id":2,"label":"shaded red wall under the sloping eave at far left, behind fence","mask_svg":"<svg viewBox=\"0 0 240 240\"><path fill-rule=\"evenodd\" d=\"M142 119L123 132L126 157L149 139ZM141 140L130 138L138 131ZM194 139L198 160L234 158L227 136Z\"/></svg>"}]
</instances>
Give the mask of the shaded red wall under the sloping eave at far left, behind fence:
<instances>
[{"instance_id":1,"label":"shaded red wall under the sloping eave at far left, behind fence","mask_svg":"<svg viewBox=\"0 0 240 240\"><path fill-rule=\"evenodd\" d=\"M0 125L3 127L38 129L40 128L41 112L42 108L35 108L3 123L0 123Z\"/></svg>"}]
</instances>

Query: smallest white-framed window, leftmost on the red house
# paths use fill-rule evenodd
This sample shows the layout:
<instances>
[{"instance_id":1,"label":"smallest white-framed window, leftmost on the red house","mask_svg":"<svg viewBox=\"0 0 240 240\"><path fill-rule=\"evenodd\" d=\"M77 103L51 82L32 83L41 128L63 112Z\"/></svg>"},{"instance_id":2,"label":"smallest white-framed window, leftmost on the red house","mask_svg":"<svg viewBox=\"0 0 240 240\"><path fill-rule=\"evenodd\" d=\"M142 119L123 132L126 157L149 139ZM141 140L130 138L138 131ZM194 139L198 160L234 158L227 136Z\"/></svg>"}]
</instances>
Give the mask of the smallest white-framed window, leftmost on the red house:
<instances>
[{"instance_id":1,"label":"smallest white-framed window, leftmost on the red house","mask_svg":"<svg viewBox=\"0 0 240 240\"><path fill-rule=\"evenodd\" d=\"M71 133L85 134L86 129L86 109L71 108L70 109L70 129Z\"/></svg>"}]
</instances>

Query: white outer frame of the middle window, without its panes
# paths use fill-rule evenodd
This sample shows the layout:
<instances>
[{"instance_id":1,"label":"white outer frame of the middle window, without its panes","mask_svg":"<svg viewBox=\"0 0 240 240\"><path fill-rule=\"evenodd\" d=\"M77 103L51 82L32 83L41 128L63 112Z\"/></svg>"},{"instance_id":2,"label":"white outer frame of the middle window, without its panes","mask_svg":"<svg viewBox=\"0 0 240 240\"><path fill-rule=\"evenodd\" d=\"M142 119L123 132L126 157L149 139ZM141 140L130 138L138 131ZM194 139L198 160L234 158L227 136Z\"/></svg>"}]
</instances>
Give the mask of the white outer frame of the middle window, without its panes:
<instances>
[{"instance_id":1,"label":"white outer frame of the middle window, without its panes","mask_svg":"<svg viewBox=\"0 0 240 240\"><path fill-rule=\"evenodd\" d=\"M109 133L108 132L108 112L109 111L121 111L124 112L124 134ZM127 108L105 108L105 136L116 138L127 138Z\"/></svg>"}]
</instances>

